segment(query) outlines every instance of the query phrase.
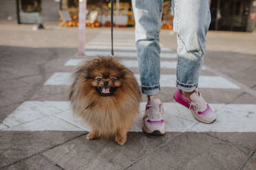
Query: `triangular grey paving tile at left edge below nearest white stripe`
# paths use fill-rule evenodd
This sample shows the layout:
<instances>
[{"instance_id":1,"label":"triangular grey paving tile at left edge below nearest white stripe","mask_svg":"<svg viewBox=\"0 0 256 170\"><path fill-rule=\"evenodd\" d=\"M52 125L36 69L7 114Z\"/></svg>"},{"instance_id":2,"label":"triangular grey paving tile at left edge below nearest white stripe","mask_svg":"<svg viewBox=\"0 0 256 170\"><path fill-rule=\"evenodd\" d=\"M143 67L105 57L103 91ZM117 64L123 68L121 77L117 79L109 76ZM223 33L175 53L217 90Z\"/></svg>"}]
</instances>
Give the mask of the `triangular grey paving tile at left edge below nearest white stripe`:
<instances>
[{"instance_id":1,"label":"triangular grey paving tile at left edge below nearest white stripe","mask_svg":"<svg viewBox=\"0 0 256 170\"><path fill-rule=\"evenodd\" d=\"M85 132L0 132L0 167L69 141Z\"/></svg>"}]
</instances>

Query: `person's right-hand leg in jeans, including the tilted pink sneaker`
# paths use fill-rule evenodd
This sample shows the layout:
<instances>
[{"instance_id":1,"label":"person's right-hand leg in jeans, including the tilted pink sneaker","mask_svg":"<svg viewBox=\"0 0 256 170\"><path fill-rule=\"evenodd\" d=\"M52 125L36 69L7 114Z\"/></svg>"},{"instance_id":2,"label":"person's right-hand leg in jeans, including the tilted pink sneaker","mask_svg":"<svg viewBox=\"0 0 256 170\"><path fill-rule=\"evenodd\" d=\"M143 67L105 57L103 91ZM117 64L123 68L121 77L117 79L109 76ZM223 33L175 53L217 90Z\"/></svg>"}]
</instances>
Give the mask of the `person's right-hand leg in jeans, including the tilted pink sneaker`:
<instances>
[{"instance_id":1,"label":"person's right-hand leg in jeans, including the tilted pink sneaker","mask_svg":"<svg viewBox=\"0 0 256 170\"><path fill-rule=\"evenodd\" d=\"M215 114L198 92L204 63L206 34L211 22L208 0L172 0L173 30L177 34L177 82L174 98L191 109L198 121L211 123Z\"/></svg>"}]
</instances>

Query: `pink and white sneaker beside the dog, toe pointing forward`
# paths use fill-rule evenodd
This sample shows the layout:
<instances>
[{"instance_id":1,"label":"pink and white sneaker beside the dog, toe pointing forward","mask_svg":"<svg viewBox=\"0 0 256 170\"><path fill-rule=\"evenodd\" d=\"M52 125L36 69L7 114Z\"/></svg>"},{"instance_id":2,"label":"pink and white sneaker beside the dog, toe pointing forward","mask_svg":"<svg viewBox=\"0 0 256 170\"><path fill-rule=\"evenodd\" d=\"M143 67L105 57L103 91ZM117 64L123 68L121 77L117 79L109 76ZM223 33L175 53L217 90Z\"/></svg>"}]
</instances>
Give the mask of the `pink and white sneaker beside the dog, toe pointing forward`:
<instances>
[{"instance_id":1,"label":"pink and white sneaker beside the dog, toe pointing forward","mask_svg":"<svg viewBox=\"0 0 256 170\"><path fill-rule=\"evenodd\" d=\"M164 109L160 99L154 99L153 96L150 97L143 117L142 130L146 134L165 134Z\"/></svg>"}]
</instances>

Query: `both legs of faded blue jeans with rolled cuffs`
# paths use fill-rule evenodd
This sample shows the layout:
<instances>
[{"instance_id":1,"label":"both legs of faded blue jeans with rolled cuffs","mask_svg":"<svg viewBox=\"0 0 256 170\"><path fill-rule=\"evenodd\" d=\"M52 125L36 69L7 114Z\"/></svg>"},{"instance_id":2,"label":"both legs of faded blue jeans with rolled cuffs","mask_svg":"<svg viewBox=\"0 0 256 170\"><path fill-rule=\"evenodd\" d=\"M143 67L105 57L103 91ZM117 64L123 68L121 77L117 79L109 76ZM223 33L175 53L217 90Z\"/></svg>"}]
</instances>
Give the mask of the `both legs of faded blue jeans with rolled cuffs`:
<instances>
[{"instance_id":1,"label":"both legs of faded blue jeans with rolled cuffs","mask_svg":"<svg viewBox=\"0 0 256 170\"><path fill-rule=\"evenodd\" d=\"M160 91L159 34L162 0L132 0L142 93ZM177 87L191 92L198 86L204 63L206 34L211 22L208 0L172 0L173 31L177 35Z\"/></svg>"}]
</instances>

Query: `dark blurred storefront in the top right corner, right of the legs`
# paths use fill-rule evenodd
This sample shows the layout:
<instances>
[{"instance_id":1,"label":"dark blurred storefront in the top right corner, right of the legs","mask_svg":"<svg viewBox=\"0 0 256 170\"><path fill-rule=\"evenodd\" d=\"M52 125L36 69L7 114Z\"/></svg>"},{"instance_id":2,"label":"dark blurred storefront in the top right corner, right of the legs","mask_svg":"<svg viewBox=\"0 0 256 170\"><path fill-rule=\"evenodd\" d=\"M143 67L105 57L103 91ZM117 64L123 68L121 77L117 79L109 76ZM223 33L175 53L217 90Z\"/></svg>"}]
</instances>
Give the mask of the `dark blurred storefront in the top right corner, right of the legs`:
<instances>
[{"instance_id":1,"label":"dark blurred storefront in the top right corner, right of the legs","mask_svg":"<svg viewBox=\"0 0 256 170\"><path fill-rule=\"evenodd\" d=\"M255 0L211 0L210 29L253 32L255 24Z\"/></svg>"}]
</instances>

